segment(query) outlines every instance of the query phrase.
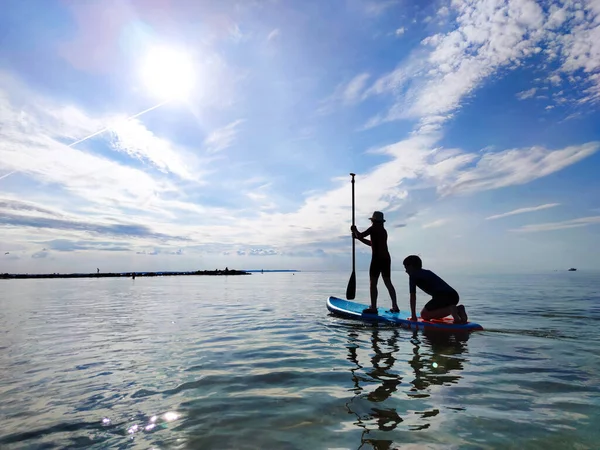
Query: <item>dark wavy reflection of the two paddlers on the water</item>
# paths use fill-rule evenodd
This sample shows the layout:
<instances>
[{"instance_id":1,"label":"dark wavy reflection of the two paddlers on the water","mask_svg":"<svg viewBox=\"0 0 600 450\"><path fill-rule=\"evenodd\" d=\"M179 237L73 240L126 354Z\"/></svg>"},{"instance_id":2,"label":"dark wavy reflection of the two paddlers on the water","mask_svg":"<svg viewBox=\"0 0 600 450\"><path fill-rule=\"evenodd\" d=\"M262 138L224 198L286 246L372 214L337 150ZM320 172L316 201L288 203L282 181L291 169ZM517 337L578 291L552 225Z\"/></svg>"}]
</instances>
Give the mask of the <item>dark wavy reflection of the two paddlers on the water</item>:
<instances>
[{"instance_id":1,"label":"dark wavy reflection of the two paddlers on the water","mask_svg":"<svg viewBox=\"0 0 600 450\"><path fill-rule=\"evenodd\" d=\"M459 383L460 371L468 362L468 339L468 333L409 332L385 325L374 325L368 333L363 327L350 328L346 348L347 359L353 363L354 397L346 407L356 416L354 425L363 430L361 446L392 448L393 441L368 436L373 430L429 428L440 408L415 411L413 402L430 397L431 386ZM419 423L415 414L421 419Z\"/></svg>"}]
</instances>

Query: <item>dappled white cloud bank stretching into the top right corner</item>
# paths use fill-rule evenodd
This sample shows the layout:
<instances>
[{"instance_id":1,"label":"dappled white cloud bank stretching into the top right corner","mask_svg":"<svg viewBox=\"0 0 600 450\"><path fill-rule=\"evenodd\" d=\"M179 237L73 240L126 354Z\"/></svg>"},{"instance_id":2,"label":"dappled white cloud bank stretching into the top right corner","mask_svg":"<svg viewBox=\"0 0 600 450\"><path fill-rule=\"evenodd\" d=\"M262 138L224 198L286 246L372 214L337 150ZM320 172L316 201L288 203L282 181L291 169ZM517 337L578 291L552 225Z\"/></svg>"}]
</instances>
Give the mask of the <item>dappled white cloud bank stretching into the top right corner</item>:
<instances>
[{"instance_id":1,"label":"dappled white cloud bank stretching into the top right corner","mask_svg":"<svg viewBox=\"0 0 600 450\"><path fill-rule=\"evenodd\" d=\"M577 73L582 78L571 77L571 82L589 85L580 102L600 99L600 13L593 1L581 5L579 11L576 3L568 2L546 12L534 0L454 0L457 27L425 38L423 48L366 90L366 96L393 94L396 100L387 113L369 119L365 128L429 116L445 121L500 69L518 68L542 52L542 42L549 42L546 58L559 59L559 72ZM569 33L553 31L566 20L575 24ZM556 73L549 82L560 79ZM517 95L531 98L536 91Z\"/></svg>"}]
</instances>

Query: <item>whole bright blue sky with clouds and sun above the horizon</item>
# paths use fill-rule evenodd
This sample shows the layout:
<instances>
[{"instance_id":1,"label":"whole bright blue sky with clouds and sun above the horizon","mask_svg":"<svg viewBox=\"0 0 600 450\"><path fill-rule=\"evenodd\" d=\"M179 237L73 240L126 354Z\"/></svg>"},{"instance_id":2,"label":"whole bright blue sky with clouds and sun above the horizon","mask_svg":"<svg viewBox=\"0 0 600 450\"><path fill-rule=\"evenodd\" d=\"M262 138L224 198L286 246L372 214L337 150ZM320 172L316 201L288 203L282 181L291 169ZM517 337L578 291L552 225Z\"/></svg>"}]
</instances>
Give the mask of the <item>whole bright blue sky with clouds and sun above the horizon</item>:
<instances>
[{"instance_id":1,"label":"whole bright blue sky with clouds and sun above the horizon","mask_svg":"<svg viewBox=\"0 0 600 450\"><path fill-rule=\"evenodd\" d=\"M600 0L1 8L0 273L600 268Z\"/></svg>"}]
</instances>

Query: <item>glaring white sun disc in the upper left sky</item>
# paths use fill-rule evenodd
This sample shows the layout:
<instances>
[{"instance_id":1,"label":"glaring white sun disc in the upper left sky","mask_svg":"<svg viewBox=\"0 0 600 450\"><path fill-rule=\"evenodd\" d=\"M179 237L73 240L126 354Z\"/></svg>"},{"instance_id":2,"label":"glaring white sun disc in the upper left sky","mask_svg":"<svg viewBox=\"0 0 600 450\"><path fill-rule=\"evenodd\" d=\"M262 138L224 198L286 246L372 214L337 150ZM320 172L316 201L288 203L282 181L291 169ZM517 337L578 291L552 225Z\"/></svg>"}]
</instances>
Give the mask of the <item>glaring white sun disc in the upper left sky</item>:
<instances>
[{"instance_id":1,"label":"glaring white sun disc in the upper left sky","mask_svg":"<svg viewBox=\"0 0 600 450\"><path fill-rule=\"evenodd\" d=\"M194 87L194 72L189 54L166 46L148 51L141 66L146 88L162 100L186 99Z\"/></svg>"}]
</instances>

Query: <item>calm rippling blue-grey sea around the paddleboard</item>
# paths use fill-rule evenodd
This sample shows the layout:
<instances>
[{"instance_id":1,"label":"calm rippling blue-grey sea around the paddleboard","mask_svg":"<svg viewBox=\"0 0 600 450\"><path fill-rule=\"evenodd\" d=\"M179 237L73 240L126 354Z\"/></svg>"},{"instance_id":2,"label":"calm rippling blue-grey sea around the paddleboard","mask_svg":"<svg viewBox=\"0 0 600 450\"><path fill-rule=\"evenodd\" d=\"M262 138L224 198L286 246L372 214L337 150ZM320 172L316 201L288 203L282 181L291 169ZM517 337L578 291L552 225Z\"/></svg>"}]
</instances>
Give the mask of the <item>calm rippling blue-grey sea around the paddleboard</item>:
<instances>
[{"instance_id":1,"label":"calm rippling blue-grey sea around the paddleboard","mask_svg":"<svg viewBox=\"0 0 600 450\"><path fill-rule=\"evenodd\" d=\"M598 448L598 274L448 276L466 337L332 317L348 278L0 280L0 448Z\"/></svg>"}]
</instances>

